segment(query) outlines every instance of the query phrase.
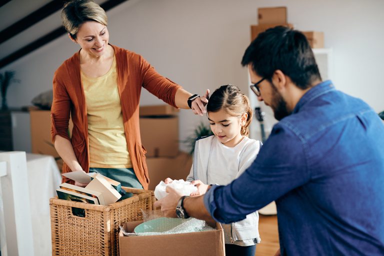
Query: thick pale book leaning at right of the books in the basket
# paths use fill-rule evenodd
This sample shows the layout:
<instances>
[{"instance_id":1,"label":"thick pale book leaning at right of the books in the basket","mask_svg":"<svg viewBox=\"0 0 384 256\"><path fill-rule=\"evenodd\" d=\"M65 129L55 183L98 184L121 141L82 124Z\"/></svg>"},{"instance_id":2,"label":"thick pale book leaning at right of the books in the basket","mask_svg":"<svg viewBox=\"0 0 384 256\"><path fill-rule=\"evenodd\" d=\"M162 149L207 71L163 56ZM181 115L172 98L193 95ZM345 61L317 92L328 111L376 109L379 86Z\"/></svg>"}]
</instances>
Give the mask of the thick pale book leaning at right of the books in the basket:
<instances>
[{"instance_id":1,"label":"thick pale book leaning at right of the books in the basket","mask_svg":"<svg viewBox=\"0 0 384 256\"><path fill-rule=\"evenodd\" d=\"M105 205L113 203L121 197L121 194L101 174L95 175L85 188L101 192Z\"/></svg>"}]
</instances>

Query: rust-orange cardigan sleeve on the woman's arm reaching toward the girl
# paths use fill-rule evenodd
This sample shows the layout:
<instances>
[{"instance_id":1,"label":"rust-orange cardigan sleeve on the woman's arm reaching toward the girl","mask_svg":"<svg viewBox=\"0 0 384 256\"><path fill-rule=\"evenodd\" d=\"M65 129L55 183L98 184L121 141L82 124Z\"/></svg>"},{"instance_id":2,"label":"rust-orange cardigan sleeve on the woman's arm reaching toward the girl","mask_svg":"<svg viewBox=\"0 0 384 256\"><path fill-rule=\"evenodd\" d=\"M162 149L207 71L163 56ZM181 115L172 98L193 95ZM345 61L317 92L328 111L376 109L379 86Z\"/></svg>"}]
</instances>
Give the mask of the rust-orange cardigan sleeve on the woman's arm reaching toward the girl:
<instances>
[{"instance_id":1,"label":"rust-orange cardigan sleeve on the woman's arm reaching toward the girl","mask_svg":"<svg viewBox=\"0 0 384 256\"><path fill-rule=\"evenodd\" d=\"M142 56L139 56L139 63L142 74L142 86L159 99L177 107L174 97L177 89L182 87L157 73L154 67Z\"/></svg>"}]
</instances>

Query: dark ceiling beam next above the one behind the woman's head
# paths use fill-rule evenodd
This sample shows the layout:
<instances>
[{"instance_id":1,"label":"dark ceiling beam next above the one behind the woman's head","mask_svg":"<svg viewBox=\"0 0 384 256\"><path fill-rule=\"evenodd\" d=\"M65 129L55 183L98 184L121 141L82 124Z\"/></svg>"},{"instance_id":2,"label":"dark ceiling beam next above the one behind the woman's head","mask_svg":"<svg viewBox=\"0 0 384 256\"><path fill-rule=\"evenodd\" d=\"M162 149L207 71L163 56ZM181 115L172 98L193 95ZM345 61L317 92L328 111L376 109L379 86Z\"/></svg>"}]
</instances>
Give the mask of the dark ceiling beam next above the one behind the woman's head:
<instances>
[{"instance_id":1,"label":"dark ceiling beam next above the one behind the woman's head","mask_svg":"<svg viewBox=\"0 0 384 256\"><path fill-rule=\"evenodd\" d=\"M33 11L29 15L23 17L22 19L11 24L7 28L0 31L0 43L8 40L12 36L18 34L19 32L27 29L38 21L46 18L50 14L58 11L64 5L63 0L53 0Z\"/></svg>"}]
</instances>

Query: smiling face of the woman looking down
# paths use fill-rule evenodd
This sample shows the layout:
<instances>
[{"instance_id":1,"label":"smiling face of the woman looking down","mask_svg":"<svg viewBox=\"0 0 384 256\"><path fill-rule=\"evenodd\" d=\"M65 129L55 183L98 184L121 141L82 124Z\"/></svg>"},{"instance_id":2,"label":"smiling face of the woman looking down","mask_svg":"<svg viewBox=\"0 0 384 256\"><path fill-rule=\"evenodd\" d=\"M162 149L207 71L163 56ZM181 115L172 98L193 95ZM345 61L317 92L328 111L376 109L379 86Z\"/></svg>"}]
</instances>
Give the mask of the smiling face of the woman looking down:
<instances>
[{"instance_id":1,"label":"smiling face of the woman looking down","mask_svg":"<svg viewBox=\"0 0 384 256\"><path fill-rule=\"evenodd\" d=\"M100 57L106 52L108 40L108 29L96 21L82 23L74 39L82 50L94 57Z\"/></svg>"}]
</instances>

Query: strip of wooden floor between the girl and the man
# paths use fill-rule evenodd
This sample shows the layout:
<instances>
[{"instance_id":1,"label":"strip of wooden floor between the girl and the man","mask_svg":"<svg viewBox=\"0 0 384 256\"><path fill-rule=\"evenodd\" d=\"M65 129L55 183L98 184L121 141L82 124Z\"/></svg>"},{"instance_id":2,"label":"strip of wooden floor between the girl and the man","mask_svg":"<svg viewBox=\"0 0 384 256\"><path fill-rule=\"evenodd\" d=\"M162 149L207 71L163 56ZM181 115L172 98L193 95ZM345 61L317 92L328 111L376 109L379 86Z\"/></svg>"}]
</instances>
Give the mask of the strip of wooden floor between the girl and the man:
<instances>
[{"instance_id":1,"label":"strip of wooden floor between the girl and the man","mask_svg":"<svg viewBox=\"0 0 384 256\"><path fill-rule=\"evenodd\" d=\"M277 216L259 214L258 231L261 242L256 245L255 256L273 256L279 248Z\"/></svg>"}]
</instances>

